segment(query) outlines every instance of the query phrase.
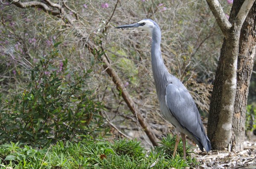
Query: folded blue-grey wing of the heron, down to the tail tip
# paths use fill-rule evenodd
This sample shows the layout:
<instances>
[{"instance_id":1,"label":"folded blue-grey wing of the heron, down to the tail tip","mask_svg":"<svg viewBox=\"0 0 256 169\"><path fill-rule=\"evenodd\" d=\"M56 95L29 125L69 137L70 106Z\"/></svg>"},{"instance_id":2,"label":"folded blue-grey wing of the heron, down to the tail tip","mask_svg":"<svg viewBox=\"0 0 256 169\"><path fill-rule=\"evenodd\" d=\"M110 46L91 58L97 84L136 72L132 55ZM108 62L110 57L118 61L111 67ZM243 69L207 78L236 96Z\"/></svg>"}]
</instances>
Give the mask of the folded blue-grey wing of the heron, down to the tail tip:
<instances>
[{"instance_id":1,"label":"folded blue-grey wing of the heron, down to the tail tip","mask_svg":"<svg viewBox=\"0 0 256 169\"><path fill-rule=\"evenodd\" d=\"M189 131L197 140L199 148L208 152L210 141L205 134L200 114L186 87L180 82L180 87L170 83L166 86L166 106L177 119L181 127ZM194 139L194 140L195 140Z\"/></svg>"}]
</instances>

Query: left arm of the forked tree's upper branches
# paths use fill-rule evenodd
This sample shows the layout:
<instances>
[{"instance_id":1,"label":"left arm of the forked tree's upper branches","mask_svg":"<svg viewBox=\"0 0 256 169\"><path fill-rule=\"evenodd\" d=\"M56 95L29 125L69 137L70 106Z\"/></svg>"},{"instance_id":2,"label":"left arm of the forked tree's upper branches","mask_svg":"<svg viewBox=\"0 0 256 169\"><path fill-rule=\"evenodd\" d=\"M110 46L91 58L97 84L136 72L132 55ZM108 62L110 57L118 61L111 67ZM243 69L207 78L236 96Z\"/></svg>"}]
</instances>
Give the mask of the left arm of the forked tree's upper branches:
<instances>
[{"instance_id":1,"label":"left arm of the forked tree's upper branches","mask_svg":"<svg viewBox=\"0 0 256 169\"><path fill-rule=\"evenodd\" d=\"M227 20L227 17L221 7L218 0L206 0L210 7L212 14L214 15L219 27L221 28L222 34L228 37L232 24Z\"/></svg>"}]
</instances>

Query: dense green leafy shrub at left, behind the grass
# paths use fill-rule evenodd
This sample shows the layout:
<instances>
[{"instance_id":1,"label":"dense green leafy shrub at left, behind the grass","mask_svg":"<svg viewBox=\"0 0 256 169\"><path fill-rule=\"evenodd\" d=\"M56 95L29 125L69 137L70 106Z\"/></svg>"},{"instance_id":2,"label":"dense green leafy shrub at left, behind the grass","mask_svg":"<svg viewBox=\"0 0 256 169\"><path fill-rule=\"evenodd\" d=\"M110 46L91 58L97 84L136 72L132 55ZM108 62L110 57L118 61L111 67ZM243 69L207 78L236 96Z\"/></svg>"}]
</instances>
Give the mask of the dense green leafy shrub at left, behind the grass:
<instances>
[{"instance_id":1,"label":"dense green leafy shrub at left, behind the grass","mask_svg":"<svg viewBox=\"0 0 256 169\"><path fill-rule=\"evenodd\" d=\"M92 70L70 70L67 59L56 58L58 50L53 48L30 70L23 91L12 99L0 96L0 144L20 141L41 147L109 131L103 127L102 103L95 101L93 90L87 90Z\"/></svg>"}]
</instances>

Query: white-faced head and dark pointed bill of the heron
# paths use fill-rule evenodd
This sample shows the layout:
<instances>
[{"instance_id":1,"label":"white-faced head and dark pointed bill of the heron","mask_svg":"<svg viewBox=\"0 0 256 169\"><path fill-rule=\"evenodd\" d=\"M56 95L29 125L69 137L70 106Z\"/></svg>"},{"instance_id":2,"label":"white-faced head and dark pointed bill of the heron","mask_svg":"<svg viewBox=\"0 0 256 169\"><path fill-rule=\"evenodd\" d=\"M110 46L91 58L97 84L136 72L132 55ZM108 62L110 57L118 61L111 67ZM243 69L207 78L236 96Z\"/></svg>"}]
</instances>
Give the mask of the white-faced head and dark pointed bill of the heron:
<instances>
[{"instance_id":1,"label":"white-faced head and dark pointed bill of the heron","mask_svg":"<svg viewBox=\"0 0 256 169\"><path fill-rule=\"evenodd\" d=\"M141 20L138 23L134 23L134 24L130 24L130 25L117 26L116 28L140 28L140 29L143 29L145 31L148 31L151 34L152 34L153 30L156 29L156 28L160 30L157 23L155 23L151 19L144 19L144 20Z\"/></svg>"}]
</instances>

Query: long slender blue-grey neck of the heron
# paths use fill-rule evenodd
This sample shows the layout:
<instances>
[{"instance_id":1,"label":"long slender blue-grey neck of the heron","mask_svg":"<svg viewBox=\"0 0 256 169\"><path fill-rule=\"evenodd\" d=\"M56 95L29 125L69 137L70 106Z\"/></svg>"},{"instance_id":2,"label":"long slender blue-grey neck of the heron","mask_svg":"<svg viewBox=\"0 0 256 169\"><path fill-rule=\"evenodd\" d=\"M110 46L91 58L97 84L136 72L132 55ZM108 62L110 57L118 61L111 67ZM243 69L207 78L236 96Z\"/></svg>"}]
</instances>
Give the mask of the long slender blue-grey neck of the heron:
<instances>
[{"instance_id":1,"label":"long slender blue-grey neck of the heron","mask_svg":"<svg viewBox=\"0 0 256 169\"><path fill-rule=\"evenodd\" d=\"M163 92L163 88L167 85L166 77L169 74L168 70L166 69L163 63L160 43L161 32L160 30L155 28L152 32L151 63L158 98L160 98L160 93Z\"/></svg>"}]
</instances>

